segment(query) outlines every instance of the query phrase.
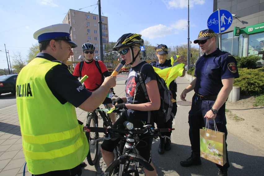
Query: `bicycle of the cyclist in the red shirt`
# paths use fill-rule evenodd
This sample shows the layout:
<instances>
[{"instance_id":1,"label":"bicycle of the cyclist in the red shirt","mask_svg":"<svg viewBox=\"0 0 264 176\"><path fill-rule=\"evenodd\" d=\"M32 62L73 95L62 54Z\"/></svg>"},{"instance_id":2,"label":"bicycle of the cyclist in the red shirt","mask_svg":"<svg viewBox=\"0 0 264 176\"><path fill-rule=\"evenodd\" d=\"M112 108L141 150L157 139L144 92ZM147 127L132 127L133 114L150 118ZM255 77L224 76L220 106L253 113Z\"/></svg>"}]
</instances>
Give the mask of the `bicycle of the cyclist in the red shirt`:
<instances>
[{"instance_id":1,"label":"bicycle of the cyclist in the red shirt","mask_svg":"<svg viewBox=\"0 0 264 176\"><path fill-rule=\"evenodd\" d=\"M112 101L115 100L114 97L117 97L116 95L113 95L112 97ZM110 107L107 106L108 109L110 109ZM100 116L97 115L97 112L99 112ZM120 117L120 113L116 113L116 119ZM107 114L105 111L100 110L99 107L97 107L93 112L88 112L87 113L87 117L86 117L87 121L86 121L86 126L89 127L98 127L99 126L99 121L102 119L103 120L103 127L104 128L108 128L111 127L113 125L113 122L111 120L111 118L109 117L109 114ZM99 146L99 141L96 140L99 138L99 134L98 133L94 133L94 132L88 132L86 133L86 137L89 143L89 152L88 155L86 157L89 165L95 165L97 162L97 158L98 158L98 146Z\"/></svg>"}]
</instances>

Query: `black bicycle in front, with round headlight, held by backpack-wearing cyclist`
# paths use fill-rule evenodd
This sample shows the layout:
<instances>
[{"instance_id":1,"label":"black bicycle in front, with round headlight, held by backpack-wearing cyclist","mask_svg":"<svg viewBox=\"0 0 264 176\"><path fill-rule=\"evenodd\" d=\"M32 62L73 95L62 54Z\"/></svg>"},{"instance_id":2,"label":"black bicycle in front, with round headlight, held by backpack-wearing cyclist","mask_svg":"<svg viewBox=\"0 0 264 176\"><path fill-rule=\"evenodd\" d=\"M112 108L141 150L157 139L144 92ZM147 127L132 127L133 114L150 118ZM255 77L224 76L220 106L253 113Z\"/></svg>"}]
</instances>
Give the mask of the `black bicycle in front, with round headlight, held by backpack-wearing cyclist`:
<instances>
[{"instance_id":1,"label":"black bicycle in front, with round headlight, held by backpack-wearing cyclist","mask_svg":"<svg viewBox=\"0 0 264 176\"><path fill-rule=\"evenodd\" d=\"M105 170L105 175L134 175L139 176L139 168L144 167L149 171L153 171L154 168L139 155L135 142L136 137L140 134L149 133L155 139L161 136L161 132L168 132L174 129L162 128L153 129L151 125L144 125L143 129L133 128L133 124L129 121L124 122L125 129L112 129L102 127L84 127L85 132L104 133L103 138L96 140L115 140L121 139L117 146L117 158L108 166ZM132 164L134 163L134 164Z\"/></svg>"}]
</instances>

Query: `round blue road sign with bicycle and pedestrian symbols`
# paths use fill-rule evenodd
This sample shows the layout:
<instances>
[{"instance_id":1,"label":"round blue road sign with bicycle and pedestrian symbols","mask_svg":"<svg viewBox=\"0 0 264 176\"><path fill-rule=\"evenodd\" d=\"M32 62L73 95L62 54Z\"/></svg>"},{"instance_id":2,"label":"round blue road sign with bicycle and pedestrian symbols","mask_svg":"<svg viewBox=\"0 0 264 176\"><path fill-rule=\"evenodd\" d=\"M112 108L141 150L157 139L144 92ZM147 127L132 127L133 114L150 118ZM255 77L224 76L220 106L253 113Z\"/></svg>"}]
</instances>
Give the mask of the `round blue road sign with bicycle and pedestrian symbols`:
<instances>
[{"instance_id":1,"label":"round blue road sign with bicycle and pedestrian symbols","mask_svg":"<svg viewBox=\"0 0 264 176\"><path fill-rule=\"evenodd\" d=\"M215 33L226 31L232 24L232 14L227 10L214 11L207 20L208 29L213 29Z\"/></svg>"}]
</instances>

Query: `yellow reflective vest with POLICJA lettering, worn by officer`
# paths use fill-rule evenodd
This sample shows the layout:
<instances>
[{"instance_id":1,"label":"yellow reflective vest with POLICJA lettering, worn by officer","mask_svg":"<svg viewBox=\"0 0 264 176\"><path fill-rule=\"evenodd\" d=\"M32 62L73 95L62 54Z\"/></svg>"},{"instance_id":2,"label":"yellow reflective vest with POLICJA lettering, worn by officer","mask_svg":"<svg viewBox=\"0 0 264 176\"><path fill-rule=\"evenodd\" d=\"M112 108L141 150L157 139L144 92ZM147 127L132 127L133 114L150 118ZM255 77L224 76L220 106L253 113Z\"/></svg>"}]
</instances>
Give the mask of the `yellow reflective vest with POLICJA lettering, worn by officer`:
<instances>
[{"instance_id":1,"label":"yellow reflective vest with POLICJA lettering, worn by officer","mask_svg":"<svg viewBox=\"0 0 264 176\"><path fill-rule=\"evenodd\" d=\"M89 151L75 107L69 102L61 104L46 84L46 73L58 64L35 58L16 81L23 151L32 174L72 169Z\"/></svg>"}]
</instances>

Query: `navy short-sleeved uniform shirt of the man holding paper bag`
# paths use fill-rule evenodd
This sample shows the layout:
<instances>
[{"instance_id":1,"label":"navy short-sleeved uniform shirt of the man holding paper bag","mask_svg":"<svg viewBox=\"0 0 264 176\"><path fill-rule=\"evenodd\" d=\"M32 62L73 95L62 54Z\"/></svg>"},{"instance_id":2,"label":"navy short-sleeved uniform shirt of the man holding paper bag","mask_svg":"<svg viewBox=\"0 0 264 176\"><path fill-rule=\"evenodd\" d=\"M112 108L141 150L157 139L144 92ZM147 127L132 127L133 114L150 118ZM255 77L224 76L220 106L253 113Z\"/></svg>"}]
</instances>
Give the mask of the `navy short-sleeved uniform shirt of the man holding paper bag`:
<instances>
[{"instance_id":1,"label":"navy short-sleeved uniform shirt of the man holding paper bag","mask_svg":"<svg viewBox=\"0 0 264 176\"><path fill-rule=\"evenodd\" d=\"M209 55L201 56L196 62L194 91L204 96L218 95L223 87L222 79L238 78L235 58L217 49Z\"/></svg>"}]
</instances>

